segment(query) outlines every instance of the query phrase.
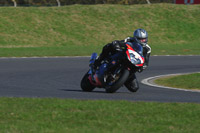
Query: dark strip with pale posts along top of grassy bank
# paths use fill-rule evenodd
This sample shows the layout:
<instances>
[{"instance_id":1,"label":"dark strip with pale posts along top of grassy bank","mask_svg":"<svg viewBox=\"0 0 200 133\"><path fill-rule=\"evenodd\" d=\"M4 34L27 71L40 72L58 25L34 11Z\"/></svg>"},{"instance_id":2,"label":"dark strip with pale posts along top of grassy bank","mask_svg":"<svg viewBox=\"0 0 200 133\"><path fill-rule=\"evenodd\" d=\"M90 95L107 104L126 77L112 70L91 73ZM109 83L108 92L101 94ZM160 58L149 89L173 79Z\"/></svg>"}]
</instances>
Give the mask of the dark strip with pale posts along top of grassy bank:
<instances>
[{"instance_id":1,"label":"dark strip with pale posts along top of grassy bank","mask_svg":"<svg viewBox=\"0 0 200 133\"><path fill-rule=\"evenodd\" d=\"M174 0L1 0L1 6L64 6L73 4L150 4L173 3Z\"/></svg>"}]
</instances>

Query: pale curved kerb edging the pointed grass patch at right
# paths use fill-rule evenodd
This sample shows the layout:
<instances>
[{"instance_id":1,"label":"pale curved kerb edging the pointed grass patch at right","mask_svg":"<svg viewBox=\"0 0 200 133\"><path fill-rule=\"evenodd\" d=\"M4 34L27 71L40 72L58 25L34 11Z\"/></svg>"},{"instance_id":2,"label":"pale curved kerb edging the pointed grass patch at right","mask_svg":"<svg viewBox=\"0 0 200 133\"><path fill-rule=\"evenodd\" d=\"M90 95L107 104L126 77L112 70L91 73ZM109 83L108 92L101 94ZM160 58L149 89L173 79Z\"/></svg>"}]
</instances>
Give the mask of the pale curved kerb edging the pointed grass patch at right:
<instances>
[{"instance_id":1,"label":"pale curved kerb edging the pointed grass patch at right","mask_svg":"<svg viewBox=\"0 0 200 133\"><path fill-rule=\"evenodd\" d=\"M200 73L200 72L192 72L192 73ZM161 78L161 77L168 77L168 76L176 76L176 75L185 75L185 74L192 74L192 73L177 73L177 74L166 74L166 75L158 75L154 77L149 77L146 79L143 79L141 83L153 87L159 87L159 88L165 88L165 89L173 89L173 90L180 90L180 91L189 91L189 92L199 92L200 90L189 90L189 89L182 89L182 88L173 88L173 87L168 87L168 86L162 86L154 83L154 80Z\"/></svg>"}]
</instances>

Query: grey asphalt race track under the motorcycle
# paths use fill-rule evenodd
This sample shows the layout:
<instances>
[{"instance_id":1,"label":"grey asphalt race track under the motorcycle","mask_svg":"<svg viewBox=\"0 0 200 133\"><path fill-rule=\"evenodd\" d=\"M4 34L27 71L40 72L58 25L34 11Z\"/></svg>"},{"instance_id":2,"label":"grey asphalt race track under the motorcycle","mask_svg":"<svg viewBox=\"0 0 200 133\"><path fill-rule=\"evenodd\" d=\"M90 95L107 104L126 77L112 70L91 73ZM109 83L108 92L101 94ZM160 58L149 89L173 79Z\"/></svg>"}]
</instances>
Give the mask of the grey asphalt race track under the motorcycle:
<instances>
[{"instance_id":1,"label":"grey asphalt race track under the motorcycle","mask_svg":"<svg viewBox=\"0 0 200 133\"><path fill-rule=\"evenodd\" d=\"M200 103L200 93L150 87L140 82L136 93L121 87L83 92L80 81L88 70L89 57L0 58L0 97L56 97L156 102ZM174 73L200 72L200 56L152 56L150 66L137 73L138 80Z\"/></svg>"}]
</instances>

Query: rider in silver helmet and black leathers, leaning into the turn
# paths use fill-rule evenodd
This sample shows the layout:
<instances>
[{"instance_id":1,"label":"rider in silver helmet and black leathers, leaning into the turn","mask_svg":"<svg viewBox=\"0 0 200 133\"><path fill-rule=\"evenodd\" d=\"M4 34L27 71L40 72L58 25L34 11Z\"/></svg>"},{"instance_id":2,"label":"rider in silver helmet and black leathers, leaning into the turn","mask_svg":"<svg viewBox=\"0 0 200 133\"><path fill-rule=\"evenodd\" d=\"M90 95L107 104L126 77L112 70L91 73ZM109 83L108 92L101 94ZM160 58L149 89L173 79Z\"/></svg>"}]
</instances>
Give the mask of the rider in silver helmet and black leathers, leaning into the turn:
<instances>
[{"instance_id":1,"label":"rider in silver helmet and black leathers, leaning into the turn","mask_svg":"<svg viewBox=\"0 0 200 133\"><path fill-rule=\"evenodd\" d=\"M126 48L126 42L131 42L131 43L139 43L143 47L143 56L145 58L145 62L143 67L138 69L138 72L142 72L144 69L148 67L149 64L149 57L151 54L151 47L147 44L148 42L148 34L146 30L144 29L137 29L133 33L133 37L127 37L124 40L115 40L112 43L108 43L103 47L102 53L96 59L93 65L93 69L96 69L98 66L101 65L101 62L108 57L109 55L112 55L113 53L116 53L118 51L122 51L122 49ZM94 70L95 71L95 70ZM129 80L125 83L125 86L133 91L137 91L139 89L139 84L137 81L137 78L135 76L135 73L132 73L130 75ZM135 92L134 91L134 92Z\"/></svg>"}]
</instances>

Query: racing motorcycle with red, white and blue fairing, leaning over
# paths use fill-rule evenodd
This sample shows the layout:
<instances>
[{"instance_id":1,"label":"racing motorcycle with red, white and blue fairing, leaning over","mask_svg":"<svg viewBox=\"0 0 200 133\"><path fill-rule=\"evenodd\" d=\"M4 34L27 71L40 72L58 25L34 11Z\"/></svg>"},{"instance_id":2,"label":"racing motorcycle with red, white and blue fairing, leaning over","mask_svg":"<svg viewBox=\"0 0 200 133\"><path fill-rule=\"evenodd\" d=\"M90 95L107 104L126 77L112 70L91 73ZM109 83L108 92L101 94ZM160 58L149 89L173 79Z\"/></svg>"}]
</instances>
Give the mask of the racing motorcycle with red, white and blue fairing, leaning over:
<instances>
[{"instance_id":1,"label":"racing motorcycle with red, white and blue fairing, leaning over","mask_svg":"<svg viewBox=\"0 0 200 133\"><path fill-rule=\"evenodd\" d=\"M131 92L139 89L134 76L136 72L142 71L144 64L143 48L140 44L127 42L125 49L104 59L94 71L91 64L95 62L97 56L97 53L91 55L89 65L91 67L81 80L83 91L91 92L98 87L104 88L107 93L114 93L123 85ZM136 87L133 87L133 84Z\"/></svg>"}]
</instances>

